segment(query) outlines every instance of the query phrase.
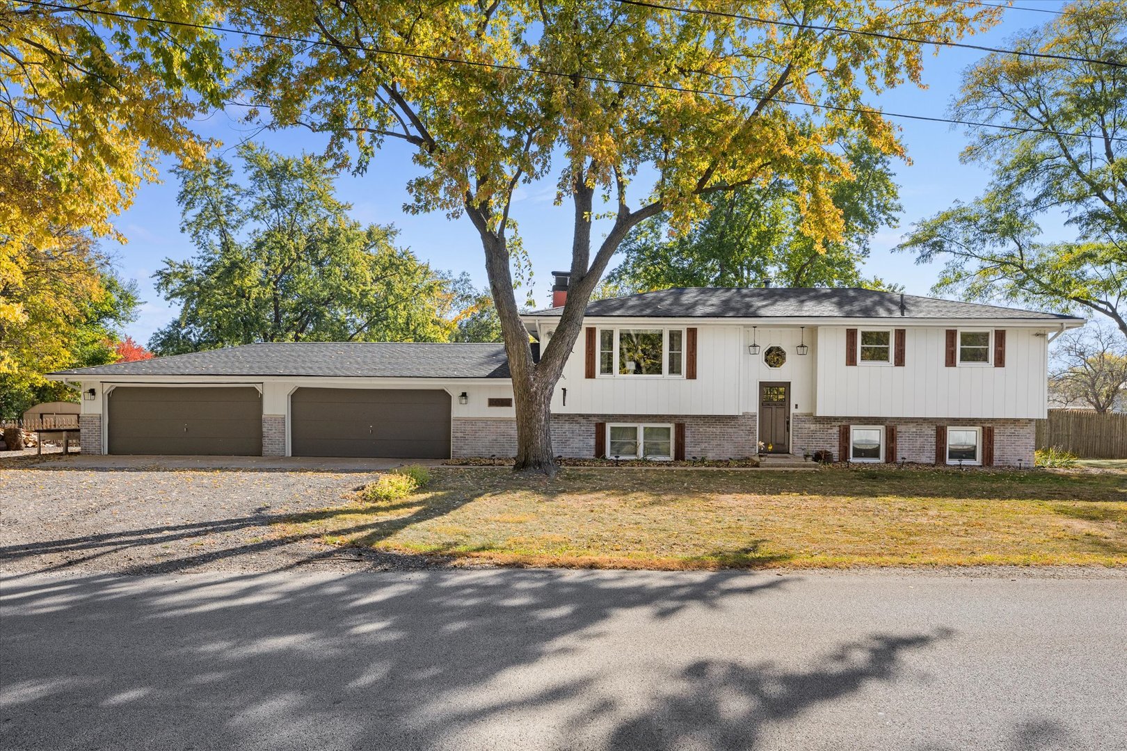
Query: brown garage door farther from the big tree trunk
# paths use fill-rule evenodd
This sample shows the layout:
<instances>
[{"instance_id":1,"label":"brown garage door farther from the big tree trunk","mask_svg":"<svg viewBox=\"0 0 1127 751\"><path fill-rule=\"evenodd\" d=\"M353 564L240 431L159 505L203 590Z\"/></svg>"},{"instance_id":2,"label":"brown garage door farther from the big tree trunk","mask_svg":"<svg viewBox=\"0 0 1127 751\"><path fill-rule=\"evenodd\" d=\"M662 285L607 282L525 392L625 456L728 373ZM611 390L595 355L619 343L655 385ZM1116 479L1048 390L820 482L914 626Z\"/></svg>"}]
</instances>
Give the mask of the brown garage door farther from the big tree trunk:
<instances>
[{"instance_id":1,"label":"brown garage door farther from the big tree trunk","mask_svg":"<svg viewBox=\"0 0 1127 751\"><path fill-rule=\"evenodd\" d=\"M263 455L257 388L117 386L106 403L110 454Z\"/></svg>"}]
</instances>

